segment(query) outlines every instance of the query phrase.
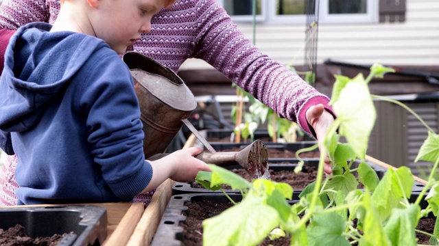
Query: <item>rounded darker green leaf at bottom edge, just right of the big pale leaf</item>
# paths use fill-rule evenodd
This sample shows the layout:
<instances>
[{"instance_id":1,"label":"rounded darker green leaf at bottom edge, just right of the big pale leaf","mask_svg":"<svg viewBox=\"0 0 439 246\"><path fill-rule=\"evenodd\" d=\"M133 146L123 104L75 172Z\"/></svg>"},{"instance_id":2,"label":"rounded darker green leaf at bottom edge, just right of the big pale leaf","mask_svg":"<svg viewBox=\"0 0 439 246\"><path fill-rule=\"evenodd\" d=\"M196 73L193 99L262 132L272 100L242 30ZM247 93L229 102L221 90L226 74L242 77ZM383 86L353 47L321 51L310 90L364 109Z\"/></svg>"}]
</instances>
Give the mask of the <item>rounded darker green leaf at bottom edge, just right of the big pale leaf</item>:
<instances>
[{"instance_id":1,"label":"rounded darker green leaf at bottom edge, just right of the big pale leaf","mask_svg":"<svg viewBox=\"0 0 439 246\"><path fill-rule=\"evenodd\" d=\"M349 246L351 245L342 236L346 229L346 222L337 213L316 215L307 228L309 245Z\"/></svg>"}]
</instances>

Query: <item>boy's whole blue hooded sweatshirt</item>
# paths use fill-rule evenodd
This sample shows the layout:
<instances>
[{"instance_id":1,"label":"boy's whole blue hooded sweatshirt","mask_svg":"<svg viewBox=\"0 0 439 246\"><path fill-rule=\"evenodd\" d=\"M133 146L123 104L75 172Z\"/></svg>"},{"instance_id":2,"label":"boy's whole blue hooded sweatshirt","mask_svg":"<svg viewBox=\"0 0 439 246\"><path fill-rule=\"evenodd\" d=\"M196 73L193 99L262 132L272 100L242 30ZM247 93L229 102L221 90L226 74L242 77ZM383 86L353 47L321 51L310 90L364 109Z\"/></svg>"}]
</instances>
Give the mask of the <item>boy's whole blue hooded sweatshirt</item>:
<instances>
[{"instance_id":1,"label":"boy's whole blue hooded sweatshirt","mask_svg":"<svg viewBox=\"0 0 439 246\"><path fill-rule=\"evenodd\" d=\"M50 29L19 28L0 78L19 204L130 201L152 178L130 70L103 40Z\"/></svg>"}]
</instances>

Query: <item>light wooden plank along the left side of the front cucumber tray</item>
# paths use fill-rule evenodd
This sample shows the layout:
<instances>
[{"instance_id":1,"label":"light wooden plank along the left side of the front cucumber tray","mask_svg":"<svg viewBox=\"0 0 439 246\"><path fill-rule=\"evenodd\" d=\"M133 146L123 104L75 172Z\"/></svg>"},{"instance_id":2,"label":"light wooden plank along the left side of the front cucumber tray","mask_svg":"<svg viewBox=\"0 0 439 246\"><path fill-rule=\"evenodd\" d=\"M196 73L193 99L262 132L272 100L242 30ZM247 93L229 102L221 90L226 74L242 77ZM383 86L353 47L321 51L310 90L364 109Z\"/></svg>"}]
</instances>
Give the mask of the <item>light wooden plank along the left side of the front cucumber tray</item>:
<instances>
[{"instance_id":1,"label":"light wooden plank along the left side of the front cucumber tray","mask_svg":"<svg viewBox=\"0 0 439 246\"><path fill-rule=\"evenodd\" d=\"M183 148L193 146L195 141L195 135L191 134ZM152 195L150 204L146 207L139 223L137 223L130 241L128 241L126 245L139 246L151 244L152 237L156 233L158 223L160 223L163 213L165 213L166 206L171 199L173 185L174 180L167 179L158 186L156 192L154 192L154 195Z\"/></svg>"}]
</instances>

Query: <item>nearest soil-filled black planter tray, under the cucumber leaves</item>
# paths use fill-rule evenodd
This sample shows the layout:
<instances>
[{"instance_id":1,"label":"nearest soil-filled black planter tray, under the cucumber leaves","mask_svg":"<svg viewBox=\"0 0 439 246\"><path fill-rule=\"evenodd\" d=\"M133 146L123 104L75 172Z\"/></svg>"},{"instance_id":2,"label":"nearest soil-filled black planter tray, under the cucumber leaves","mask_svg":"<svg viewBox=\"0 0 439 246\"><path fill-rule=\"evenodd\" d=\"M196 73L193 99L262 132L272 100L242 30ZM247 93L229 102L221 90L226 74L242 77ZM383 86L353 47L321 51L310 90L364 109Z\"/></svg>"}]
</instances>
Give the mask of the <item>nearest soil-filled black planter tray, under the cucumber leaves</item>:
<instances>
[{"instance_id":1,"label":"nearest soil-filled black planter tray, under the cucumber leaves","mask_svg":"<svg viewBox=\"0 0 439 246\"><path fill-rule=\"evenodd\" d=\"M235 202L241 201L241 195L231 194ZM416 200L416 194L411 199ZM294 204L298 201L290 201ZM420 204L421 206L425 204ZM233 204L224 194L182 194L174 195L169 200L165 213L158 224L158 228L152 240L152 246L201 246L202 244L202 221L222 213ZM425 208L425 207L423 207ZM433 233L436 218L421 218L417 229ZM418 244L429 245L429 236L416 233ZM291 238L281 237L276 240L265 240L259 244L265 245L290 245ZM322 244L323 245L323 244Z\"/></svg>"}]
</instances>

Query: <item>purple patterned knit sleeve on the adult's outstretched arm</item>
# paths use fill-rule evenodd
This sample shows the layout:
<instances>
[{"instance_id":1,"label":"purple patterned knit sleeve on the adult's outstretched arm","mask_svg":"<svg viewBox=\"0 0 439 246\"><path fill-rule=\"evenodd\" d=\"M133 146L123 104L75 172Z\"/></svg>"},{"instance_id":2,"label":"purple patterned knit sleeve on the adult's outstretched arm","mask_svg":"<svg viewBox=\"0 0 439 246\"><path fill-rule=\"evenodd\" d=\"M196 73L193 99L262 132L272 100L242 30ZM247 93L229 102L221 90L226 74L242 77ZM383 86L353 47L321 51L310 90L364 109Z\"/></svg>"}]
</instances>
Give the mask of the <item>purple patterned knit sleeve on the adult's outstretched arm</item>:
<instances>
[{"instance_id":1,"label":"purple patterned knit sleeve on the adult's outstretched arm","mask_svg":"<svg viewBox=\"0 0 439 246\"><path fill-rule=\"evenodd\" d=\"M297 122L315 137L305 113L309 107L322 103L335 115L328 105L329 98L259 51L219 3L208 2L198 8L200 18L195 33L199 34L193 42L193 56L204 59L281 118Z\"/></svg>"}]
</instances>

